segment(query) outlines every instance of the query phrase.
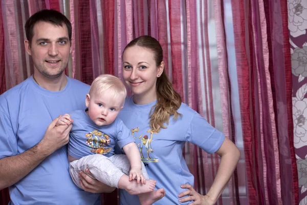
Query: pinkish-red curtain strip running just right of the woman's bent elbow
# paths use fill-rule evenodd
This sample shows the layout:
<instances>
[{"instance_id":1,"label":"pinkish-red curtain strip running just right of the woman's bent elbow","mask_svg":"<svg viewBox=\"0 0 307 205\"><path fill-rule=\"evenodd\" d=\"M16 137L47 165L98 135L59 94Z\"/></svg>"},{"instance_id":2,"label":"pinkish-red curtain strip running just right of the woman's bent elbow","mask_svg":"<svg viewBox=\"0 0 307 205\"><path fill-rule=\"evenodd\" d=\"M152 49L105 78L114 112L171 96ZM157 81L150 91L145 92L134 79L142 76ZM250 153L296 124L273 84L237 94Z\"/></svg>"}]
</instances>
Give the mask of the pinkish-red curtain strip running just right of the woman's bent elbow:
<instances>
[{"instance_id":1,"label":"pinkish-red curtain strip running just right of the woman's bent elbow","mask_svg":"<svg viewBox=\"0 0 307 205\"><path fill-rule=\"evenodd\" d=\"M247 53L245 51L246 31L245 31L245 7L243 0L232 1L232 18L234 27L234 42L235 42L235 56L237 79L239 88L239 104L242 123L242 134L244 141L244 153L246 161L246 183L248 192L249 204L257 204L257 192L254 184L253 173L253 134L252 122L250 119L250 83L249 83L249 64L247 60ZM237 14L237 15L234 15ZM251 49L250 49L251 50ZM252 89L253 90L253 89Z\"/></svg>"}]
</instances>

